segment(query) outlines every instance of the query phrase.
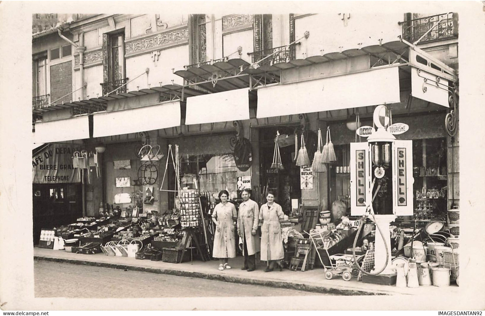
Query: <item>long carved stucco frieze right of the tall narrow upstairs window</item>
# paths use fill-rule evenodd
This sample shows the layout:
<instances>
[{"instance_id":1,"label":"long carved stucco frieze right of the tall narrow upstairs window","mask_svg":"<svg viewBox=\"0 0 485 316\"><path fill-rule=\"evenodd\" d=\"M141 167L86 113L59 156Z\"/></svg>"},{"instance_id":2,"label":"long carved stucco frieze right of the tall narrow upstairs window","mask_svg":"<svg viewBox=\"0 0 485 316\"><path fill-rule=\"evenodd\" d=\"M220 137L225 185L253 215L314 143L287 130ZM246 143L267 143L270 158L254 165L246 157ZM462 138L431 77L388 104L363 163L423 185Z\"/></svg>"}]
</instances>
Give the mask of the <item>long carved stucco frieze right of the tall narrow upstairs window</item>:
<instances>
[{"instance_id":1,"label":"long carved stucco frieze right of the tall narrow upstairs window","mask_svg":"<svg viewBox=\"0 0 485 316\"><path fill-rule=\"evenodd\" d=\"M188 40L189 29L177 29L164 33L159 33L152 36L140 38L128 43L125 43L125 53L134 53L138 51L144 51L150 48L156 48L163 45L169 45L177 43L179 41Z\"/></svg>"}]
</instances>

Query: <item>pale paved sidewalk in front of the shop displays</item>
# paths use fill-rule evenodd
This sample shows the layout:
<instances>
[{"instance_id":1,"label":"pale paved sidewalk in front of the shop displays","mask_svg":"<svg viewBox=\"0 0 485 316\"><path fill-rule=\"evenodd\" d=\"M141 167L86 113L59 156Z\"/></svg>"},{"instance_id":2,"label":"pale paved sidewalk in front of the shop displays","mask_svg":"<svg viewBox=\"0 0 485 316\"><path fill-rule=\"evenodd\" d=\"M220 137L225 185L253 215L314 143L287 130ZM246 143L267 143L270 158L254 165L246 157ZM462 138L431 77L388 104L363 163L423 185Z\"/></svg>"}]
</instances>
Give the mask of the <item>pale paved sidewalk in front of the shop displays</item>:
<instances>
[{"instance_id":1,"label":"pale paved sidewalk in front of the shop displays","mask_svg":"<svg viewBox=\"0 0 485 316\"><path fill-rule=\"evenodd\" d=\"M170 274L184 277L202 278L208 280L227 281L242 284L258 284L273 287L291 288L319 293L333 293L338 295L424 295L430 297L448 296L458 293L459 287L452 284L448 287L420 286L418 288L398 288L389 285L378 285L356 281L344 281L341 277L326 280L323 268L314 270L273 271L265 273L264 263L259 263L253 272L241 270L243 258L241 256L229 259L230 270L219 271L218 261L194 261L186 263L164 263L161 261L136 260L127 257L109 257L103 253L84 255L34 247L34 260L53 261L62 263L85 264L116 269L128 269L151 273Z\"/></svg>"}]
</instances>

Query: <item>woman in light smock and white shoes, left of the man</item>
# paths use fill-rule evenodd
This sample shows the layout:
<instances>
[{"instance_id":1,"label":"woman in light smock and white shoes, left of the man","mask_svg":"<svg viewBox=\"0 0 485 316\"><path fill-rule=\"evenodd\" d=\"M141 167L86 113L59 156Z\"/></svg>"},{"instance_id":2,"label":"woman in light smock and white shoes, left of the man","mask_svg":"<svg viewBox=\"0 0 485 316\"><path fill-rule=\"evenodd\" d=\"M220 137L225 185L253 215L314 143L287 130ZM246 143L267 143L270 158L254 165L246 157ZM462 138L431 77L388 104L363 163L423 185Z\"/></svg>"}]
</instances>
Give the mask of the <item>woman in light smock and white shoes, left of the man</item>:
<instances>
[{"instance_id":1,"label":"woman in light smock and white shoes, left of the man","mask_svg":"<svg viewBox=\"0 0 485 316\"><path fill-rule=\"evenodd\" d=\"M231 268L228 258L236 257L234 221L238 215L234 204L227 201L229 193L226 190L219 192L219 198L221 203L217 204L212 212L212 222L216 227L212 257L219 258L219 270L224 270Z\"/></svg>"}]
</instances>

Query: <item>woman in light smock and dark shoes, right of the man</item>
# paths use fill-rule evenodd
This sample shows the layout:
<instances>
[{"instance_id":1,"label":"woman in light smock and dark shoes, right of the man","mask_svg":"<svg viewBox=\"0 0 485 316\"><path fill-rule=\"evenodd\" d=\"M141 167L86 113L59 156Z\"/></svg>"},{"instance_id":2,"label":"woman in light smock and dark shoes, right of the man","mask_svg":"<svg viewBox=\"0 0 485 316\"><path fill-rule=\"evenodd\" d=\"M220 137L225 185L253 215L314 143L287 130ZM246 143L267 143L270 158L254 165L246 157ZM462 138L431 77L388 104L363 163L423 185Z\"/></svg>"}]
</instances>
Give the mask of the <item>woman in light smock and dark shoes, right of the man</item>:
<instances>
[{"instance_id":1,"label":"woman in light smock and dark shoes, right of the man","mask_svg":"<svg viewBox=\"0 0 485 316\"><path fill-rule=\"evenodd\" d=\"M275 194L269 191L266 195L268 203L263 204L259 210L259 221L261 226L261 260L266 261L267 266L264 272L273 271L276 266L283 269L281 259L284 258L283 239L281 237L281 226L279 220L283 219L285 213L281 206L275 203Z\"/></svg>"}]
</instances>

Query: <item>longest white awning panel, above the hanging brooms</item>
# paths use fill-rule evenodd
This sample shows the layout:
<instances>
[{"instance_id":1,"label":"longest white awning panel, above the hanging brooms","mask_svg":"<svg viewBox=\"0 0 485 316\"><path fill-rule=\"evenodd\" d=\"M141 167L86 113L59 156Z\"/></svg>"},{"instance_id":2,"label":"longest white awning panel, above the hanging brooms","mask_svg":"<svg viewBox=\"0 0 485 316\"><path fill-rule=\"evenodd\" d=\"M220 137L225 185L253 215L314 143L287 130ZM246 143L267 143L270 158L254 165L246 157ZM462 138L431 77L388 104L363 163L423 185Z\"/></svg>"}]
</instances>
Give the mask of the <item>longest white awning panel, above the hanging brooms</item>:
<instances>
[{"instance_id":1,"label":"longest white awning panel, above the hanging brooms","mask_svg":"<svg viewBox=\"0 0 485 316\"><path fill-rule=\"evenodd\" d=\"M257 118L398 103L398 67L258 89Z\"/></svg>"}]
</instances>

